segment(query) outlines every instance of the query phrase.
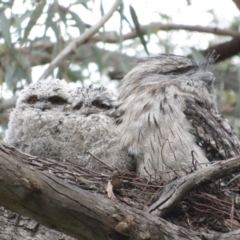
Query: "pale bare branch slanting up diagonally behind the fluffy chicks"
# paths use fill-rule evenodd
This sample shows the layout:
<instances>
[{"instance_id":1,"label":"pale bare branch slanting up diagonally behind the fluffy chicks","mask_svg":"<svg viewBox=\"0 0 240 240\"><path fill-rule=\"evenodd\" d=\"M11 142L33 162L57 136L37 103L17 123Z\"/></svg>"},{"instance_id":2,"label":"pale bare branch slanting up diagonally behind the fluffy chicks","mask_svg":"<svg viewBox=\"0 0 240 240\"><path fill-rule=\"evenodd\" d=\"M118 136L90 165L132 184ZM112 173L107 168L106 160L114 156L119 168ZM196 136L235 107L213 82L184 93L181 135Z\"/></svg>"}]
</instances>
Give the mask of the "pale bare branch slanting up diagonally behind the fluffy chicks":
<instances>
[{"instance_id":1,"label":"pale bare branch slanting up diagonally behind the fluffy chicks","mask_svg":"<svg viewBox=\"0 0 240 240\"><path fill-rule=\"evenodd\" d=\"M113 15L113 13L117 10L117 8L122 4L122 0L116 0L113 4L112 8L109 10L109 12L103 16L103 18L93 27L91 27L89 30L84 32L79 38L72 41L66 48L64 48L58 56L50 63L48 68L45 70L45 72L42 74L42 76L39 79L47 78L53 70L59 66L59 64L67 57L69 53L74 51L77 47L79 47L81 44L86 42L89 38L91 38L94 34L97 33L97 31L109 20L109 18Z\"/></svg>"}]
</instances>

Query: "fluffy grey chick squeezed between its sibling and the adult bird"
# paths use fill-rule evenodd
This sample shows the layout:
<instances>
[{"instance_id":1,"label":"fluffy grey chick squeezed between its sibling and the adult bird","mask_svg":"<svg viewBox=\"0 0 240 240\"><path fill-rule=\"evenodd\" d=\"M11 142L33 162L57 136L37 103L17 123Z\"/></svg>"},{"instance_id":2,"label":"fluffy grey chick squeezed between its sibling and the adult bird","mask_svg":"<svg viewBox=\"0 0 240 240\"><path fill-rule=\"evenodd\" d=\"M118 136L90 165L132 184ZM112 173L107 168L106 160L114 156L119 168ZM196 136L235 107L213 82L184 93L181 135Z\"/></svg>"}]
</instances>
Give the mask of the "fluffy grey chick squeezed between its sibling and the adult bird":
<instances>
[{"instance_id":1,"label":"fluffy grey chick squeezed between its sibling and the adult bird","mask_svg":"<svg viewBox=\"0 0 240 240\"><path fill-rule=\"evenodd\" d=\"M108 166L119 170L133 170L132 158L119 144L119 133L115 124L117 94L107 88L93 85L74 89L72 92L72 112L63 122L74 129L72 140L68 142L69 153L75 161L87 168L101 170L99 163L87 152L101 159ZM76 155L76 145L79 154ZM72 150L71 150L72 149Z\"/></svg>"}]
</instances>

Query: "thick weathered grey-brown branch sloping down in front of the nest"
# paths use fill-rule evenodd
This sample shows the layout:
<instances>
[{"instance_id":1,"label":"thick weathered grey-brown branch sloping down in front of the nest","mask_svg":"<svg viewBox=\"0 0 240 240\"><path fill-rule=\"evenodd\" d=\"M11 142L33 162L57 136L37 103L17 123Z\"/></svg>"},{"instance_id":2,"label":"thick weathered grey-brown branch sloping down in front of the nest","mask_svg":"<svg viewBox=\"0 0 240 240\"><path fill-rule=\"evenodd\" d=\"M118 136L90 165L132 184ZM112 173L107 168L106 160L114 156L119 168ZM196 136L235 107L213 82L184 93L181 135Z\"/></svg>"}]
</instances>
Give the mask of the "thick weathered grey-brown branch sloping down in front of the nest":
<instances>
[{"instance_id":1,"label":"thick weathered grey-brown branch sloping down in front of the nest","mask_svg":"<svg viewBox=\"0 0 240 240\"><path fill-rule=\"evenodd\" d=\"M78 239L227 239L229 236L229 239L237 239L234 237L239 236L239 231L218 236L193 232L146 211L109 200L105 194L83 190L72 179L73 184L69 184L66 179L56 177L58 171L53 172L46 167L57 164L57 161L26 155L1 144L0 205ZM223 161L220 171L228 167L234 172L239 165L237 159ZM64 163L62 166L65 166ZM211 168L215 168L214 165ZM216 168L216 171L219 172L219 169ZM13 225L18 221L15 228L18 228L22 239L36 239L36 236L37 239L46 239L47 236L52 237L49 239L60 239L58 233L48 233L46 228L38 226L36 222L28 221L23 216L19 221L15 219L14 213L1 211L0 222L12 225L8 230L14 229ZM21 227L23 231L19 230ZM43 231L45 234L41 236ZM5 236L3 239L16 239L14 231L4 231L0 236Z\"/></svg>"}]
</instances>

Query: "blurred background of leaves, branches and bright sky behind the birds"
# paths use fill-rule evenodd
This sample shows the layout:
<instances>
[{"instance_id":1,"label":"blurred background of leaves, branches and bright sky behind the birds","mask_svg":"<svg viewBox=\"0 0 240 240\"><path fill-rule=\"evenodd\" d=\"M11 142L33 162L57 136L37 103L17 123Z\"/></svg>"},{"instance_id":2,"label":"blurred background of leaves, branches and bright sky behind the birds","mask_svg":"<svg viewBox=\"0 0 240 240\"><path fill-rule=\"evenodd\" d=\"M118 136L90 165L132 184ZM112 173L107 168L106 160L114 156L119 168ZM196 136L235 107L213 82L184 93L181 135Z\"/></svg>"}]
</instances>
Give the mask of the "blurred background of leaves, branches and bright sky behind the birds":
<instances>
[{"instance_id":1,"label":"blurred background of leaves, branches and bright sky behind the birds","mask_svg":"<svg viewBox=\"0 0 240 240\"><path fill-rule=\"evenodd\" d=\"M170 53L201 62L214 50L219 57L211 70L219 110L240 134L240 0L118 2L104 26L72 49L49 77L117 89L139 58ZM0 139L19 91L37 81L49 63L114 3L0 1Z\"/></svg>"}]
</instances>

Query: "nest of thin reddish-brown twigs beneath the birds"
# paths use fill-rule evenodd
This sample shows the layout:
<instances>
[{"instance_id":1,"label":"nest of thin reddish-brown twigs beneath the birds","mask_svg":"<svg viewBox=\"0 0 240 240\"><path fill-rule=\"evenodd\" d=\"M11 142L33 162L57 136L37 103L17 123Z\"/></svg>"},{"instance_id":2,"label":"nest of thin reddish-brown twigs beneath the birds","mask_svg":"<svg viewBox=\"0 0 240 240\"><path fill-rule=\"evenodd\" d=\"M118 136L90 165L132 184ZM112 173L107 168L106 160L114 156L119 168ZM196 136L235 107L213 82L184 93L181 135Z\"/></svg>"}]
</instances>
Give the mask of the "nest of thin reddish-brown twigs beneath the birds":
<instances>
[{"instance_id":1,"label":"nest of thin reddish-brown twigs beneath the birds","mask_svg":"<svg viewBox=\"0 0 240 240\"><path fill-rule=\"evenodd\" d=\"M47 159L26 159L28 164L41 171L47 171L71 185L94 193L105 194L106 186L111 181L114 169L109 167L110 174L100 174L89 170L81 164L66 161L61 164ZM138 176L131 172L120 172L118 178L123 187L114 191L115 201L128 206L146 210L157 199L158 193L171 181L161 178L149 180L148 177ZM164 218L178 226L205 232L230 232L240 228L240 210L238 194L240 181L220 179L214 183L206 184L187 194L174 209Z\"/></svg>"}]
</instances>

